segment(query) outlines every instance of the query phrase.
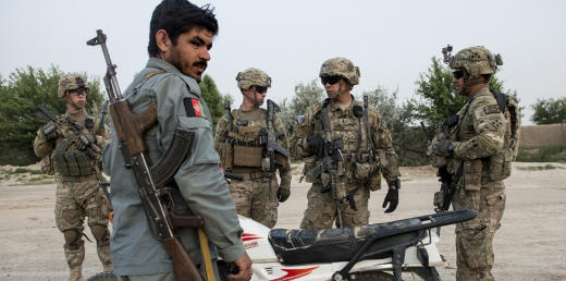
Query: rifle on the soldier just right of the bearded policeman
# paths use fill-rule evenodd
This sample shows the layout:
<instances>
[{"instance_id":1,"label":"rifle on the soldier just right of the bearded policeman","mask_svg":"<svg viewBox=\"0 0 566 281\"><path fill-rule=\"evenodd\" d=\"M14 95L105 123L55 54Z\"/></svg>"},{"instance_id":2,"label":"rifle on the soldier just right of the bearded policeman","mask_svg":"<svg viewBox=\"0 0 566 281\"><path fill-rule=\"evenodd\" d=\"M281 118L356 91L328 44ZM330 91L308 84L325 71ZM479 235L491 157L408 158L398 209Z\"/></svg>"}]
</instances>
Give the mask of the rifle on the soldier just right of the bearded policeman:
<instances>
[{"instance_id":1,"label":"rifle on the soldier just right of the bearded policeman","mask_svg":"<svg viewBox=\"0 0 566 281\"><path fill-rule=\"evenodd\" d=\"M275 113L280 110L279 106L273 100L268 99L268 112L267 112L267 129L262 129L260 132L259 144L264 146L263 160L261 161L261 169L263 172L269 174L269 198L271 198L271 181L275 173L275 166L282 166L275 161L275 152L288 157L288 151L283 146L278 144L278 138L284 134L284 132L275 132L273 129L273 122L275 121Z\"/></svg>"}]
</instances>

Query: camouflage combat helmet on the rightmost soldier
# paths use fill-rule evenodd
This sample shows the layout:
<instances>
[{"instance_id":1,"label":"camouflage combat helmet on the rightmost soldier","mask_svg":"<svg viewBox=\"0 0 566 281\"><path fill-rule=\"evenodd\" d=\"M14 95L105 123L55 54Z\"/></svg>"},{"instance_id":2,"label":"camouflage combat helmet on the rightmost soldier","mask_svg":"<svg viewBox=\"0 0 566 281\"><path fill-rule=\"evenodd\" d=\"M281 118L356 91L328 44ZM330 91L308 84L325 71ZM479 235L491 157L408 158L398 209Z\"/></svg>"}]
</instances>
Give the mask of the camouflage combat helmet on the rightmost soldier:
<instances>
[{"instance_id":1,"label":"camouflage combat helmet on the rightmost soldier","mask_svg":"<svg viewBox=\"0 0 566 281\"><path fill-rule=\"evenodd\" d=\"M484 74L494 74L497 65L503 65L501 54L491 53L483 46L476 46L463 49L451 56L452 46L442 49L444 62L453 70L465 70L468 78L479 78Z\"/></svg>"}]
</instances>

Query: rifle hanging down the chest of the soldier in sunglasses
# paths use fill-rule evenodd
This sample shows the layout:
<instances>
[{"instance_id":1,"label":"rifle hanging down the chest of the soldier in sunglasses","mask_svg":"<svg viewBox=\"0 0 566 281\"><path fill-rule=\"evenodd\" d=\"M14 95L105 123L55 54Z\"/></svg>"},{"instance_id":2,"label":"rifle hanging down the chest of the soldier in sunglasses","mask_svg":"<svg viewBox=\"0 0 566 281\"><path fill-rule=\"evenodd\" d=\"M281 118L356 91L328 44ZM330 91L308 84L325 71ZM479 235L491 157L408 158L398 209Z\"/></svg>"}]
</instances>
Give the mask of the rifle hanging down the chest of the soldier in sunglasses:
<instances>
[{"instance_id":1,"label":"rifle hanging down the chest of the soldier in sunglasses","mask_svg":"<svg viewBox=\"0 0 566 281\"><path fill-rule=\"evenodd\" d=\"M324 158L322 162L312 169L312 178L318 179L322 173L329 174L329 184L322 187L322 192L332 192L334 207L336 208L336 227L342 228L341 206L346 200L345 191L339 191L339 170L343 169L344 156L340 138L332 139L330 132L330 120L328 105L324 103L320 110L322 118L322 130L324 131Z\"/></svg>"}]
</instances>

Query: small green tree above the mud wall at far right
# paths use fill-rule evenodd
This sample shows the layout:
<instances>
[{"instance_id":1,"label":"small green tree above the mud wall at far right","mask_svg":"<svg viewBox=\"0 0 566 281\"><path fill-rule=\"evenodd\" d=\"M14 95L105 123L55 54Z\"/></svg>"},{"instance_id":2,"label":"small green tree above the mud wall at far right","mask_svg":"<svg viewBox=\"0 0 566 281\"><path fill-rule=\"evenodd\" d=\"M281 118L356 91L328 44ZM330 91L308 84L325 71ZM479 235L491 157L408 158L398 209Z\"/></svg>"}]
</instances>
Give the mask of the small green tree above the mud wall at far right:
<instances>
[{"instance_id":1,"label":"small green tree above the mud wall at far right","mask_svg":"<svg viewBox=\"0 0 566 281\"><path fill-rule=\"evenodd\" d=\"M531 121L538 125L566 122L566 97L537 99L531 107L534 110Z\"/></svg>"}]
</instances>

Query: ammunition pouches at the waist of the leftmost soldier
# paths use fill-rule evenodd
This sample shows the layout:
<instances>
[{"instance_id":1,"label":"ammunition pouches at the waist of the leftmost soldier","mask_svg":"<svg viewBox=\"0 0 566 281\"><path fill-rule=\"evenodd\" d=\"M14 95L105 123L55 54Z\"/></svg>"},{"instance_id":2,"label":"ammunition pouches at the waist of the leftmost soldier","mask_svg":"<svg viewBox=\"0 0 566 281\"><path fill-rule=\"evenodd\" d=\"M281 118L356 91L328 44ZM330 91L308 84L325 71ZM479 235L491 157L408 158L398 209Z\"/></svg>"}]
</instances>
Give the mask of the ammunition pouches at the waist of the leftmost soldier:
<instances>
[{"instance_id":1,"label":"ammunition pouches at the waist of the leftmost soldier","mask_svg":"<svg viewBox=\"0 0 566 281\"><path fill-rule=\"evenodd\" d=\"M63 176L81 176L95 173L90 158L82 151L66 151L70 144L62 140L53 155L54 171Z\"/></svg>"}]
</instances>

